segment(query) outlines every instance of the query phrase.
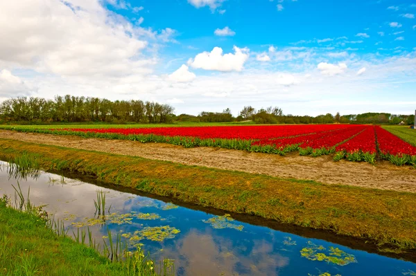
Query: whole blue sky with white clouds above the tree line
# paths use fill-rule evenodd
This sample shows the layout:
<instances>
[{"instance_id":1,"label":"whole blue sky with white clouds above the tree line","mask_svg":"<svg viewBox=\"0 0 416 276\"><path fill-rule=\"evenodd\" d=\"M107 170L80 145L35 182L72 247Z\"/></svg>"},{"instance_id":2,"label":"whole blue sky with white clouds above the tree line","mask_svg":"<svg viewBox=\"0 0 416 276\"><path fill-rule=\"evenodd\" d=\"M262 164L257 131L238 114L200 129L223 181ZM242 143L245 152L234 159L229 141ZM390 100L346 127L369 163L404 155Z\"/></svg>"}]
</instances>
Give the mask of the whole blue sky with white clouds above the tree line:
<instances>
[{"instance_id":1,"label":"whole blue sky with white clouds above the tree line","mask_svg":"<svg viewBox=\"0 0 416 276\"><path fill-rule=\"evenodd\" d=\"M175 113L416 109L415 0L0 1L0 101L77 95Z\"/></svg>"}]
</instances>

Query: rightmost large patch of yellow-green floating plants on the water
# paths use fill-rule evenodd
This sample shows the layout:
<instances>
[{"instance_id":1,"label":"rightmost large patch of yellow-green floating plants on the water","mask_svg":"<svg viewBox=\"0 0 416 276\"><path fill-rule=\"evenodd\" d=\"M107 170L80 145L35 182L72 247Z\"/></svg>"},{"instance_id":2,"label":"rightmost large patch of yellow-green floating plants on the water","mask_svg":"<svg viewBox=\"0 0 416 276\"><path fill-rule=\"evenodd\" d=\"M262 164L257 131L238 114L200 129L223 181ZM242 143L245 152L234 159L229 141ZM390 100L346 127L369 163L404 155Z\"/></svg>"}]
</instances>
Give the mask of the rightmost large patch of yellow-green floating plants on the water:
<instances>
[{"instance_id":1,"label":"rightmost large patch of yellow-green floating plants on the water","mask_svg":"<svg viewBox=\"0 0 416 276\"><path fill-rule=\"evenodd\" d=\"M357 262L354 255L348 254L339 248L331 246L329 250L326 250L323 246L317 246L311 241L308 241L308 245L308 247L300 250L300 255L311 261L326 261L338 266L346 266Z\"/></svg>"}]
</instances>

